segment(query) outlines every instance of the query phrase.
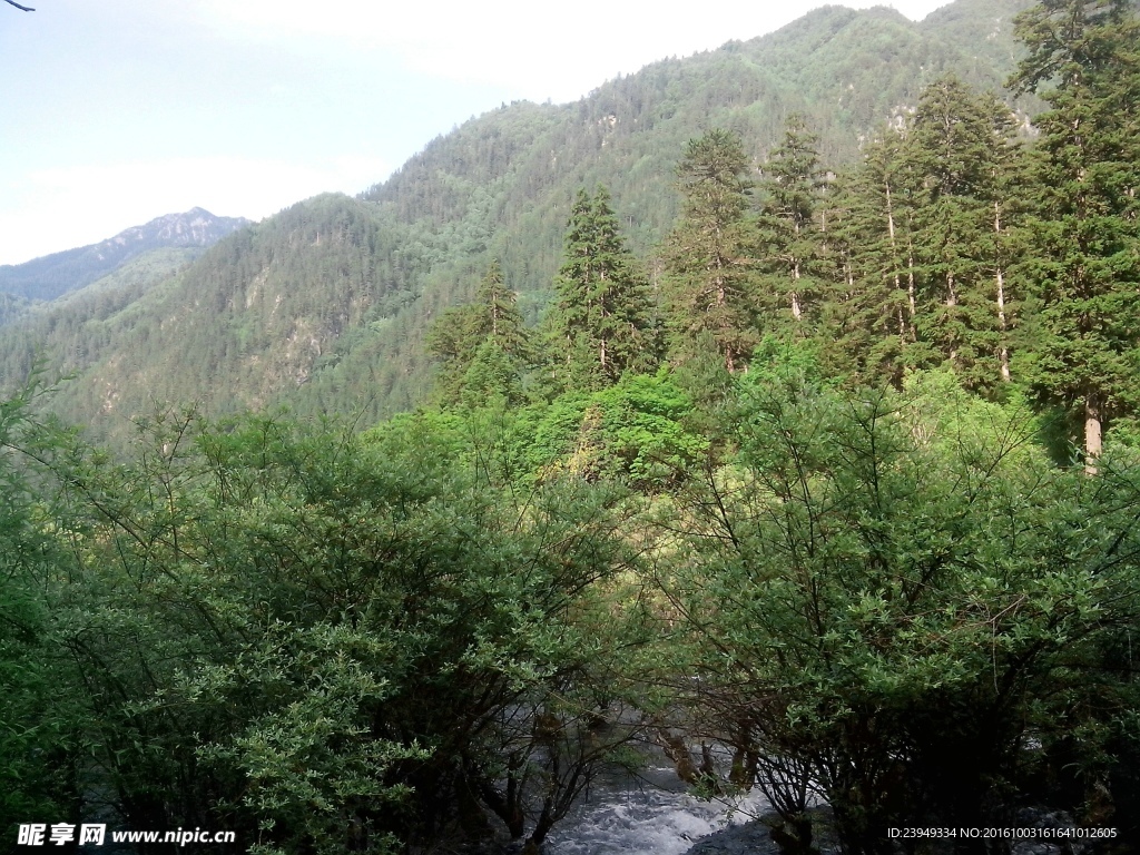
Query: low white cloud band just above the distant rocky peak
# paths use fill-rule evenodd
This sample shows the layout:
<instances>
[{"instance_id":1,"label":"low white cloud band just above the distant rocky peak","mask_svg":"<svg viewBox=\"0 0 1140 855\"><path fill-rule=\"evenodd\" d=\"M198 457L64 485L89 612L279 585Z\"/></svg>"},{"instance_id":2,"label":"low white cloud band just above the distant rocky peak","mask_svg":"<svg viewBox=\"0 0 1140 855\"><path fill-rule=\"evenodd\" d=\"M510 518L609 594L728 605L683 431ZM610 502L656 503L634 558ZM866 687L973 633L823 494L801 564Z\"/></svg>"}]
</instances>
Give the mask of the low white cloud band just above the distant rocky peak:
<instances>
[{"instance_id":1,"label":"low white cloud band just above the distant rocky peak","mask_svg":"<svg viewBox=\"0 0 1140 855\"><path fill-rule=\"evenodd\" d=\"M391 170L392 164L367 156L317 165L182 157L40 170L0 186L10 211L0 213L0 264L97 243L195 206L258 220L318 193L359 193Z\"/></svg>"}]
</instances>

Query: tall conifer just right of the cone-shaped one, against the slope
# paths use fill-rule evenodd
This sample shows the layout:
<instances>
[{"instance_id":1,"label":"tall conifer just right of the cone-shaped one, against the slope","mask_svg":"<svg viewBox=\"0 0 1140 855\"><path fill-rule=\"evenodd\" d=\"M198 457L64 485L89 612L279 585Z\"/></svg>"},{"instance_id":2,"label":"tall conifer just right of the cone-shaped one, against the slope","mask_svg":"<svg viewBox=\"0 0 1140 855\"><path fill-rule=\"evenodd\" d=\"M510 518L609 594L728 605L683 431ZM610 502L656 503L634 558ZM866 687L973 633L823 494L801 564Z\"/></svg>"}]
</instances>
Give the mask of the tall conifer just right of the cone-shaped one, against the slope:
<instances>
[{"instance_id":1,"label":"tall conifer just right of the cone-shaped one, against the slope","mask_svg":"<svg viewBox=\"0 0 1140 855\"><path fill-rule=\"evenodd\" d=\"M757 343L748 166L735 133L711 130L690 140L677 165L681 221L666 242L674 349L685 358L707 341L728 372L746 367Z\"/></svg>"}]
</instances>

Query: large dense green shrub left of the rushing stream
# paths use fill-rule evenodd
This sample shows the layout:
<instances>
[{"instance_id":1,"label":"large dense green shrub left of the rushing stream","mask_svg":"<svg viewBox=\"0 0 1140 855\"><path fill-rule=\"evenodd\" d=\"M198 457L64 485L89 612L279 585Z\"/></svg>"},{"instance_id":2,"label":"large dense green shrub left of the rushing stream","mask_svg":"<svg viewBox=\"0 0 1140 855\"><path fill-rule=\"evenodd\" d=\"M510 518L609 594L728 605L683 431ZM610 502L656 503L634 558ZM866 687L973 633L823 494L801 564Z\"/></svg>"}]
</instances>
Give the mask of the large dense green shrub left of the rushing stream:
<instances>
[{"instance_id":1,"label":"large dense green shrub left of the rushing stream","mask_svg":"<svg viewBox=\"0 0 1140 855\"><path fill-rule=\"evenodd\" d=\"M361 442L160 414L128 463L63 439L40 455L68 584L49 592L47 650L44 606L13 600L11 661L82 675L71 726L90 755L65 757L125 826L383 853L478 837L486 809L540 842L628 739L604 641L603 583L632 560L620 496L560 479L516 494L466 464L494 439L429 424ZM34 720L42 683L17 681L14 720Z\"/></svg>"}]
</instances>

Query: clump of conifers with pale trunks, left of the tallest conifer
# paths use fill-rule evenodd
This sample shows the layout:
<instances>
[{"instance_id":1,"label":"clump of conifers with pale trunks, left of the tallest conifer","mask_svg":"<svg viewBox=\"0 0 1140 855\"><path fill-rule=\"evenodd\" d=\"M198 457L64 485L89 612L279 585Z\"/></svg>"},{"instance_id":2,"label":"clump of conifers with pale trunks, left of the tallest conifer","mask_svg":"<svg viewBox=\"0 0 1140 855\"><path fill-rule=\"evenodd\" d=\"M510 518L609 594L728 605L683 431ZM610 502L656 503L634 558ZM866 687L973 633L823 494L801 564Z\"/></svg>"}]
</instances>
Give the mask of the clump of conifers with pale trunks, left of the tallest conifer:
<instances>
[{"instance_id":1,"label":"clump of conifers with pale trunks, left of the tallest conifer","mask_svg":"<svg viewBox=\"0 0 1140 855\"><path fill-rule=\"evenodd\" d=\"M829 212L839 269L823 311L846 372L901 386L946 365L1000 393L1025 292L1012 271L1020 162L1009 109L953 75L868 146Z\"/></svg>"}]
</instances>

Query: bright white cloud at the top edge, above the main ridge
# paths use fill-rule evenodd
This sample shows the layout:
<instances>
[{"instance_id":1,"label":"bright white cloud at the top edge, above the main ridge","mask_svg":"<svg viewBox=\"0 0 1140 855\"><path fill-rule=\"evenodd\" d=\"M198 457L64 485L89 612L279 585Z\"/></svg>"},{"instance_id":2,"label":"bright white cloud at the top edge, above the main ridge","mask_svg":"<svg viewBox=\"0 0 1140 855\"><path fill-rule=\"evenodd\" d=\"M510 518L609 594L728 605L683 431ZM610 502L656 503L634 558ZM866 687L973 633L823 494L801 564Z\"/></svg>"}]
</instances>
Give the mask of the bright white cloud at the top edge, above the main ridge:
<instances>
[{"instance_id":1,"label":"bright white cloud at the top edge, above the main ridge","mask_svg":"<svg viewBox=\"0 0 1140 855\"><path fill-rule=\"evenodd\" d=\"M948 0L889 3L922 18ZM686 56L732 39L771 32L817 0L773 5L711 0L693 14L666 13L644 0L578 0L536 6L521 0L201 0L202 13L230 38L284 40L319 54L334 42L398 56L439 78L508 87L534 100L573 100L618 73L668 56ZM878 5L854 0L850 6Z\"/></svg>"}]
</instances>

